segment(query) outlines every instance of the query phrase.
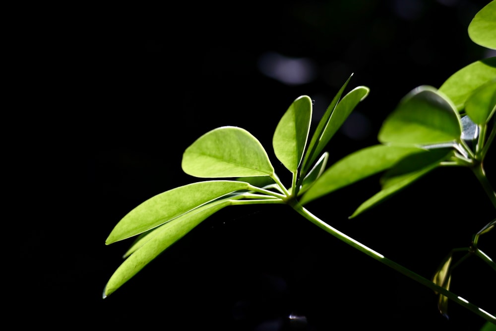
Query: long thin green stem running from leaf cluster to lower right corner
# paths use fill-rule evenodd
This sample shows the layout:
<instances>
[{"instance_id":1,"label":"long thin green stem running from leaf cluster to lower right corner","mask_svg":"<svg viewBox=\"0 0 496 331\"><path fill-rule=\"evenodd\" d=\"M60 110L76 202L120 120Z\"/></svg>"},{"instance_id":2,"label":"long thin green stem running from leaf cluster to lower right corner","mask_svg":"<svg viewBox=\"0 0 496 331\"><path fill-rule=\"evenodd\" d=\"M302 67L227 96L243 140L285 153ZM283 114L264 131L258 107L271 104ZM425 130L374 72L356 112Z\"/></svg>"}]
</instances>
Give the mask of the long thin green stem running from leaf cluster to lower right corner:
<instances>
[{"instance_id":1,"label":"long thin green stem running from leaf cluster to lower right corner","mask_svg":"<svg viewBox=\"0 0 496 331\"><path fill-rule=\"evenodd\" d=\"M410 277L413 280L416 280L417 282L429 287L432 289L434 292L440 293L447 298L453 300L454 302L460 304L461 306L467 308L468 310L472 311L473 313L481 316L487 321L490 321L492 323L496 323L496 317L491 315L490 313L482 310L481 308L477 307L476 305L468 302L467 300L463 299L462 297L457 296L453 292L450 292L446 290L445 288L438 286L434 284L431 280L422 277L421 275L407 269L406 267L399 265L392 260L389 260L385 258L383 255L375 252L374 250L370 249L369 247L365 246L364 244L356 241L355 239L347 236L346 234L334 229L332 226L329 224L325 223L324 221L320 220L318 217L310 213L307 209L305 209L301 204L298 203L298 201L294 201L291 206L301 215L303 215L306 219L308 219L310 222L313 224L317 225L319 228L323 229L324 231L330 233L334 237L338 238L339 240L347 243L348 245L356 248L357 250L367 254L368 256L372 257L373 259L383 263L384 265L388 265L391 268L395 269L396 271L401 272L402 274Z\"/></svg>"}]
</instances>

